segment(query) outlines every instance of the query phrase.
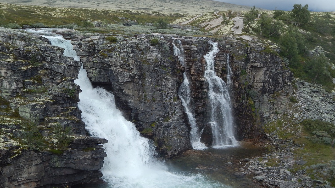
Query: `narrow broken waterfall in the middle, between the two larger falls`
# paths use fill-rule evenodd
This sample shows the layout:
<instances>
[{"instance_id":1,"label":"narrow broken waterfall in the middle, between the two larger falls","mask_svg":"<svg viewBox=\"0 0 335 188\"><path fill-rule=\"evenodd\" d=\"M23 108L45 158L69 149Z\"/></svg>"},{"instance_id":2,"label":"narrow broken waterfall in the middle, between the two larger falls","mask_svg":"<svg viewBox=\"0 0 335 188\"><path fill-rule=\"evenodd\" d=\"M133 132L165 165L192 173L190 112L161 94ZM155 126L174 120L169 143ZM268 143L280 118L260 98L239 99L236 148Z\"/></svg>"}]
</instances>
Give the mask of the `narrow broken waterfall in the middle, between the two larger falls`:
<instances>
[{"instance_id":1,"label":"narrow broken waterfall in the middle, between the two larger falls","mask_svg":"<svg viewBox=\"0 0 335 188\"><path fill-rule=\"evenodd\" d=\"M182 42L180 40L177 40L178 46L175 44L175 39L173 41L173 50L174 55L178 56L179 62L185 67L185 60L184 60L184 49ZM186 72L183 73L184 81L179 87L178 95L180 99L182 100L182 104L185 108L185 112L187 113L189 123L191 125L191 144L192 148L196 150L201 150L207 148L204 143L200 142L200 136L201 132L199 130L199 127L197 126L196 120L194 118L194 115L192 113L193 106L192 106L192 97L191 97L191 90L190 90L190 82L186 75Z\"/></svg>"}]
</instances>

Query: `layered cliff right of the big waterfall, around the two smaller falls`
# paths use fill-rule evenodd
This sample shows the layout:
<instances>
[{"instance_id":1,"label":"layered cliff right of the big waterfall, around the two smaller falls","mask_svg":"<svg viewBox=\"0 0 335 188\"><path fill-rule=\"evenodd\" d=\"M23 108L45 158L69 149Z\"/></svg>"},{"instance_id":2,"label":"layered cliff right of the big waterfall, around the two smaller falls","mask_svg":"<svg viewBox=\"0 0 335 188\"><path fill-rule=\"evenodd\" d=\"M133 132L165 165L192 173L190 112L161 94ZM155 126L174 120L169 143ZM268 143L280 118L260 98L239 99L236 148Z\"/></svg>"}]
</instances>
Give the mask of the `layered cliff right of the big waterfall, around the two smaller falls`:
<instances>
[{"instance_id":1,"label":"layered cliff right of the big waterfall, around the two smaller falls","mask_svg":"<svg viewBox=\"0 0 335 188\"><path fill-rule=\"evenodd\" d=\"M203 56L211 49L210 39L180 38L184 68L173 55L173 36L117 37L116 42L109 42L106 34L63 34L73 40L93 85L113 92L124 116L140 131L149 129L144 135L154 140L162 154L177 155L190 148L190 126L177 94L184 71L190 77L197 124L201 129L208 126ZM150 40L154 37L160 38L153 46ZM216 74L226 80L227 55L233 70L236 135L239 139L262 138L262 123L279 117L288 108L292 74L282 64L276 46L271 46L273 50L269 44L236 38L218 43Z\"/></svg>"}]
</instances>

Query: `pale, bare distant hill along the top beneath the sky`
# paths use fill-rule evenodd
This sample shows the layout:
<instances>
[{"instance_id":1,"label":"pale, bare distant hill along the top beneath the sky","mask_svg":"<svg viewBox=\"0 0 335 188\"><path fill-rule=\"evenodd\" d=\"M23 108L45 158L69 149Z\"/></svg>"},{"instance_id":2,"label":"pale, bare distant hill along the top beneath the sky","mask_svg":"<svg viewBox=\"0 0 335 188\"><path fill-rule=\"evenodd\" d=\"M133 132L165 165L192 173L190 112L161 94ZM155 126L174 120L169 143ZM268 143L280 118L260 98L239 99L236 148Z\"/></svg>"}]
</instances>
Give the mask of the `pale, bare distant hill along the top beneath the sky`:
<instances>
[{"instance_id":1,"label":"pale, bare distant hill along the top beneath the sky","mask_svg":"<svg viewBox=\"0 0 335 188\"><path fill-rule=\"evenodd\" d=\"M199 14L211 11L249 10L249 6L211 0L0 0L0 3L72 8L145 10L162 13Z\"/></svg>"}]
</instances>

